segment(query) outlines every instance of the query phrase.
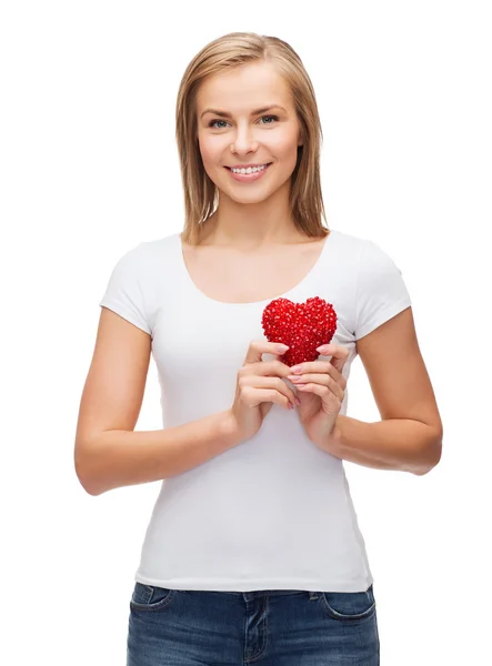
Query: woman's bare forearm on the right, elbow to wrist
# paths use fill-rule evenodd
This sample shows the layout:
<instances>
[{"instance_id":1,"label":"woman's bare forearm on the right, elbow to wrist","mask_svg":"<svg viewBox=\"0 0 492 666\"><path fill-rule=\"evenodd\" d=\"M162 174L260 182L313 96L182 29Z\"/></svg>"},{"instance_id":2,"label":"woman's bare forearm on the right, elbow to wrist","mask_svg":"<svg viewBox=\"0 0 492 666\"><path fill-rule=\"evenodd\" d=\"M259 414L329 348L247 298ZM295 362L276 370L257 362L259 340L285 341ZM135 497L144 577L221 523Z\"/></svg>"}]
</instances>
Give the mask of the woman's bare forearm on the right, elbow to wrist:
<instances>
[{"instance_id":1,"label":"woman's bare forearm on the right, elbow to wrist","mask_svg":"<svg viewBox=\"0 0 492 666\"><path fill-rule=\"evenodd\" d=\"M439 463L441 438L420 421L385 418L365 423L339 415L329 452L367 467L422 475Z\"/></svg>"}]
</instances>

